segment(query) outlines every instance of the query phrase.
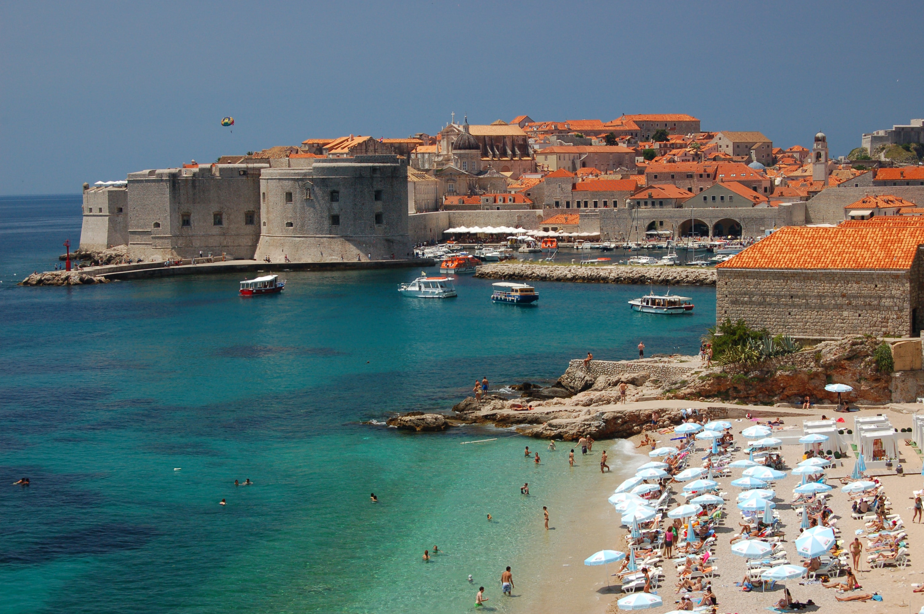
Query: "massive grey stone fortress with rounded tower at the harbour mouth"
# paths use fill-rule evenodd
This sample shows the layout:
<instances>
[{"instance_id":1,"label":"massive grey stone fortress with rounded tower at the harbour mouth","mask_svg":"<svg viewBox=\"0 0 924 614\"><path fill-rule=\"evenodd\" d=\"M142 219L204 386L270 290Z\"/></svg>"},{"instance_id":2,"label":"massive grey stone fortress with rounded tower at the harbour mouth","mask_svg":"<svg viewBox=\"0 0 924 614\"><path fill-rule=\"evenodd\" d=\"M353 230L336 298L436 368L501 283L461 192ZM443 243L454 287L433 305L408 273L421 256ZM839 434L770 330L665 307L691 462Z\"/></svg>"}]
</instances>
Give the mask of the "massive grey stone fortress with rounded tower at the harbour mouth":
<instances>
[{"instance_id":1,"label":"massive grey stone fortress with rounded tower at the harbour mouth","mask_svg":"<svg viewBox=\"0 0 924 614\"><path fill-rule=\"evenodd\" d=\"M407 162L395 155L184 164L83 191L80 248L131 259L407 259Z\"/></svg>"}]
</instances>

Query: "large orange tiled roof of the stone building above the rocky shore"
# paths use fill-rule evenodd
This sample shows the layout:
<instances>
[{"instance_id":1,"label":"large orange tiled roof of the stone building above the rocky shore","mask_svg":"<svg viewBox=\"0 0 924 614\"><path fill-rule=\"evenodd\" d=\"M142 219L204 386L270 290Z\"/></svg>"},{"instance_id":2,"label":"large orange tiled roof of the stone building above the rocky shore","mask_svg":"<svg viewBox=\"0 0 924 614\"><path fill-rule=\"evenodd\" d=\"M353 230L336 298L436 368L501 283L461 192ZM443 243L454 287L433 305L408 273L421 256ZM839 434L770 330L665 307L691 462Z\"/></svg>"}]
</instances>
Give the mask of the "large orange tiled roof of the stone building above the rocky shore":
<instances>
[{"instance_id":1,"label":"large orange tiled roof of the stone building above the rocky shore","mask_svg":"<svg viewBox=\"0 0 924 614\"><path fill-rule=\"evenodd\" d=\"M906 271L921 245L921 222L842 223L835 228L786 226L716 268Z\"/></svg>"}]
</instances>

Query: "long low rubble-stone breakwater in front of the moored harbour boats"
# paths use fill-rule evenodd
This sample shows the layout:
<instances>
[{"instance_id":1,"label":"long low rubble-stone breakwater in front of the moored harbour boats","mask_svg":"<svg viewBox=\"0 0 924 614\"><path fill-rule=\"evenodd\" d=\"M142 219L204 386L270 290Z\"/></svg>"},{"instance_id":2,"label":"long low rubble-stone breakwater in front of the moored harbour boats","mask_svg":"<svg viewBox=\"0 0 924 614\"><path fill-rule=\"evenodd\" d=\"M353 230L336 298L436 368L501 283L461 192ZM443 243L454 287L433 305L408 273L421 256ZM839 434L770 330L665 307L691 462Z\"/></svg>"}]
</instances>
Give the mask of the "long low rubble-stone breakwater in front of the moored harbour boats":
<instances>
[{"instance_id":1,"label":"long low rubble-stone breakwater in front of the moored harbour boats","mask_svg":"<svg viewBox=\"0 0 924 614\"><path fill-rule=\"evenodd\" d=\"M660 285L715 285L714 269L636 267L626 265L561 266L498 262L478 268L475 277L539 282L657 283Z\"/></svg>"}]
</instances>

